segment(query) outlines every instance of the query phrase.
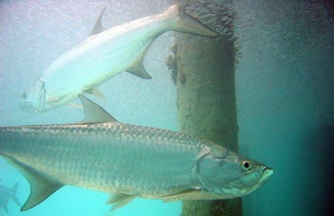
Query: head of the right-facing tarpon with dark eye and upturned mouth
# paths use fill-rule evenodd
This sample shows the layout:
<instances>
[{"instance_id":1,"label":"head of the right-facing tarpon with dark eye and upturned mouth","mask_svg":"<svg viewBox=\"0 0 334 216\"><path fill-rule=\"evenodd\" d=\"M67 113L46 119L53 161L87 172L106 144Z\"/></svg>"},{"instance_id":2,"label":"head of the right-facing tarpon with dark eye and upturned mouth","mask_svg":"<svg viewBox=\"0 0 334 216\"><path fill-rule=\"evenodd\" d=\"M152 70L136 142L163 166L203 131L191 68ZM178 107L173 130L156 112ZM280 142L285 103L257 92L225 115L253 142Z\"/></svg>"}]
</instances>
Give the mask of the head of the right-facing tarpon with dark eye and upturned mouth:
<instances>
[{"instance_id":1,"label":"head of the right-facing tarpon with dark eye and upturned mouth","mask_svg":"<svg viewBox=\"0 0 334 216\"><path fill-rule=\"evenodd\" d=\"M246 195L273 175L266 165L215 145L198 158L193 171L204 186L202 191L212 194L211 199Z\"/></svg>"}]
</instances>

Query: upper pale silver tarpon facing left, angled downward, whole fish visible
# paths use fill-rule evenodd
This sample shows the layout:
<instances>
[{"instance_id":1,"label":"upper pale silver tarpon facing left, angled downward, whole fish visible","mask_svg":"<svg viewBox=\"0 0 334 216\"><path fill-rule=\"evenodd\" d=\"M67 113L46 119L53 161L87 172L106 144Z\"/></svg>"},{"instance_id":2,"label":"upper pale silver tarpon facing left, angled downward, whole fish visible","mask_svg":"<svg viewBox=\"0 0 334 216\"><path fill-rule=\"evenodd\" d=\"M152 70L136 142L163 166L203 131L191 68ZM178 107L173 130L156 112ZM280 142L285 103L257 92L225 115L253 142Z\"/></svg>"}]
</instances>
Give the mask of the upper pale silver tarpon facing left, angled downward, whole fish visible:
<instances>
[{"instance_id":1,"label":"upper pale silver tarpon facing left, angled downward, whole fish visible","mask_svg":"<svg viewBox=\"0 0 334 216\"><path fill-rule=\"evenodd\" d=\"M23 93L20 106L28 112L44 112L68 104L82 93L104 97L99 85L122 71L150 79L143 61L155 37L181 31L207 37L218 33L185 14L189 0L160 14L105 30L98 18L91 35L51 63L43 75Z\"/></svg>"}]
</instances>

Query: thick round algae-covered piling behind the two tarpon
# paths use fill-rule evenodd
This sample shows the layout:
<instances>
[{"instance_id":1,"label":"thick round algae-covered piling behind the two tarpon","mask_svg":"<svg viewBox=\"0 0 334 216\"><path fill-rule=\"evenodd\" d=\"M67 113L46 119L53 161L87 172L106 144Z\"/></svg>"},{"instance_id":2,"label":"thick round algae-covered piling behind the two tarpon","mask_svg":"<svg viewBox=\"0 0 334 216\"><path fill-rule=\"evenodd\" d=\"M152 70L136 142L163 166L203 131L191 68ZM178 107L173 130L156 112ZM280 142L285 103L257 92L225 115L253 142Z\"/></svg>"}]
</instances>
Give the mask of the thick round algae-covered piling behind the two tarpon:
<instances>
[{"instance_id":1,"label":"thick round algae-covered piling behind the two tarpon","mask_svg":"<svg viewBox=\"0 0 334 216\"><path fill-rule=\"evenodd\" d=\"M179 128L238 151L233 42L180 34L175 64ZM195 38L195 39L194 39ZM182 216L242 216L241 199L183 201Z\"/></svg>"}]
</instances>

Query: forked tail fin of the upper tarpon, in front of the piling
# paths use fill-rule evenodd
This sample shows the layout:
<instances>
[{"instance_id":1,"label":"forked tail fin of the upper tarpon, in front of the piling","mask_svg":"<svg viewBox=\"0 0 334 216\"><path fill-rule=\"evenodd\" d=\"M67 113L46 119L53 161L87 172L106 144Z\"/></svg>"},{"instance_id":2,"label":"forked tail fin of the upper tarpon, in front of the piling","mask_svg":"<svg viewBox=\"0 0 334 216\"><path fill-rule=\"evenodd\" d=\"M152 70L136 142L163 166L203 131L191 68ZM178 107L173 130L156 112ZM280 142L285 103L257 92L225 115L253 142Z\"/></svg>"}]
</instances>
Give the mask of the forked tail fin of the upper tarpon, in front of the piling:
<instances>
[{"instance_id":1,"label":"forked tail fin of the upper tarpon, in front of the piling","mask_svg":"<svg viewBox=\"0 0 334 216\"><path fill-rule=\"evenodd\" d=\"M178 2L178 0L176 0ZM219 37L220 34L211 30L195 18L185 14L185 8L189 0L181 0L172 7L170 13L173 15L176 23L172 26L172 31L180 31L184 33L195 34L205 37Z\"/></svg>"}]
</instances>

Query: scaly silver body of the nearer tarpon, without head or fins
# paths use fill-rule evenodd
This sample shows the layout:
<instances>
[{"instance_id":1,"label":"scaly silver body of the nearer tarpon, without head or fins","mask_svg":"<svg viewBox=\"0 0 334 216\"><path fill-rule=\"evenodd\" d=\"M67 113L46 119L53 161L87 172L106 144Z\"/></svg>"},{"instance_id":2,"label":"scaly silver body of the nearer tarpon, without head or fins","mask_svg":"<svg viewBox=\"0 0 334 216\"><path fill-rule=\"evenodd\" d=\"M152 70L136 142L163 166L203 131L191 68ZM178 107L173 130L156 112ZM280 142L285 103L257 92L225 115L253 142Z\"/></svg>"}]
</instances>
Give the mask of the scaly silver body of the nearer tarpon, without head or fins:
<instances>
[{"instance_id":1,"label":"scaly silver body of the nearer tarpon, without head or fins","mask_svg":"<svg viewBox=\"0 0 334 216\"><path fill-rule=\"evenodd\" d=\"M178 132L123 123L0 127L0 139L1 154L62 185L149 198L194 186L202 144Z\"/></svg>"}]
</instances>

